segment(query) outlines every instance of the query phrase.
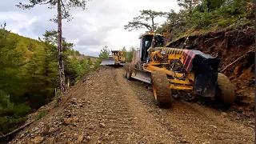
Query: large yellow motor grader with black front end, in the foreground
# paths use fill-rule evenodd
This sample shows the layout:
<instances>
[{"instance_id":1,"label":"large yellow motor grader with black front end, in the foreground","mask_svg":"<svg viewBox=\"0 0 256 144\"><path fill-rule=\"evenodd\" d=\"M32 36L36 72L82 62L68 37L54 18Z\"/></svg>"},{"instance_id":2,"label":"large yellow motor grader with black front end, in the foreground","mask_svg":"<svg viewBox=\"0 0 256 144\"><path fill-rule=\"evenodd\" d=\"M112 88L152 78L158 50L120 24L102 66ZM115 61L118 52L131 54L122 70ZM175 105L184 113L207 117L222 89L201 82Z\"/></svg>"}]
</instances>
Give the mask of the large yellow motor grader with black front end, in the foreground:
<instances>
[{"instance_id":1,"label":"large yellow motor grader with black front end, in the foreground","mask_svg":"<svg viewBox=\"0 0 256 144\"><path fill-rule=\"evenodd\" d=\"M192 90L194 95L211 98L225 105L234 104L234 85L218 73L220 60L198 50L187 50L164 45L168 35L147 31L141 34L140 49L133 61L125 66L124 77L138 79L152 85L154 99L160 108L170 108L171 90Z\"/></svg>"}]
</instances>

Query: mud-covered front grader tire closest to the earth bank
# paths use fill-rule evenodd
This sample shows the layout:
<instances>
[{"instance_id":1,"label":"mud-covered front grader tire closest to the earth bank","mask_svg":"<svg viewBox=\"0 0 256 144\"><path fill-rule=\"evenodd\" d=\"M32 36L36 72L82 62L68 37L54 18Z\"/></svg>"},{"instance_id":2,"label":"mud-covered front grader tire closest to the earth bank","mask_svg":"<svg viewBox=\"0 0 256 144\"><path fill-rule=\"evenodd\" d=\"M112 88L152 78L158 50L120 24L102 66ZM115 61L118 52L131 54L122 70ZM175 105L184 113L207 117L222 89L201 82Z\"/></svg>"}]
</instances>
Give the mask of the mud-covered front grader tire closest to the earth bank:
<instances>
[{"instance_id":1,"label":"mud-covered front grader tire closest to the earth bank","mask_svg":"<svg viewBox=\"0 0 256 144\"><path fill-rule=\"evenodd\" d=\"M236 95L234 93L235 86L225 74L218 73L217 87L215 92L215 100L223 102L226 106L234 105Z\"/></svg>"}]
</instances>

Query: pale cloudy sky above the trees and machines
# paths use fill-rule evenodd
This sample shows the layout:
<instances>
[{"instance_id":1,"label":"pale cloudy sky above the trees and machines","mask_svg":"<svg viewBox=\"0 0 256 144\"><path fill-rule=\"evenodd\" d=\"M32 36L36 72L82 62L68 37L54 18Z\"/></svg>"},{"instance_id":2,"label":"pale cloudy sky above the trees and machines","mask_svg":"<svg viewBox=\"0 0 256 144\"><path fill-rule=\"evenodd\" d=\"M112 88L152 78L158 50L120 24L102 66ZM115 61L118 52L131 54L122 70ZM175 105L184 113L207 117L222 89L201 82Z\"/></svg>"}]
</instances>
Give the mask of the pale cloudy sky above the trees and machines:
<instances>
[{"instance_id":1,"label":"pale cloudy sky above the trees and machines","mask_svg":"<svg viewBox=\"0 0 256 144\"><path fill-rule=\"evenodd\" d=\"M24 37L38 39L46 30L57 30L57 24L50 22L57 9L35 6L31 10L19 9L18 2L29 0L8 0L0 5L0 24L6 22L6 29ZM87 10L72 9L72 21L62 22L63 37L74 43L74 50L81 54L98 56L104 46L110 50L120 50L123 46L139 46L139 34L146 29L128 31L124 25L140 13L139 10L178 11L176 0L90 0ZM164 18L156 21L161 24Z\"/></svg>"}]
</instances>

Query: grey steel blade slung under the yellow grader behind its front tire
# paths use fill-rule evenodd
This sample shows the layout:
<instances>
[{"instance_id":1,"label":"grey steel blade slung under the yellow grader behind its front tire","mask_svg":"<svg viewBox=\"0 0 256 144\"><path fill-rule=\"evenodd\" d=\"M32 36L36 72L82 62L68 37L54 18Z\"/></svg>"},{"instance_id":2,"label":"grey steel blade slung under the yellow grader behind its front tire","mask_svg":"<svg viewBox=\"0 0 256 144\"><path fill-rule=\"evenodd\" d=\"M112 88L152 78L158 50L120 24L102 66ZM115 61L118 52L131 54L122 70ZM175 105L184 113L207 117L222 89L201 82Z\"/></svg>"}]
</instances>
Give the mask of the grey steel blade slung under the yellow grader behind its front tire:
<instances>
[{"instance_id":1,"label":"grey steel blade slung under the yellow grader behind its front tire","mask_svg":"<svg viewBox=\"0 0 256 144\"><path fill-rule=\"evenodd\" d=\"M133 74L131 74L131 78L138 79L142 82L151 83L151 74L146 71L134 69Z\"/></svg>"}]
</instances>

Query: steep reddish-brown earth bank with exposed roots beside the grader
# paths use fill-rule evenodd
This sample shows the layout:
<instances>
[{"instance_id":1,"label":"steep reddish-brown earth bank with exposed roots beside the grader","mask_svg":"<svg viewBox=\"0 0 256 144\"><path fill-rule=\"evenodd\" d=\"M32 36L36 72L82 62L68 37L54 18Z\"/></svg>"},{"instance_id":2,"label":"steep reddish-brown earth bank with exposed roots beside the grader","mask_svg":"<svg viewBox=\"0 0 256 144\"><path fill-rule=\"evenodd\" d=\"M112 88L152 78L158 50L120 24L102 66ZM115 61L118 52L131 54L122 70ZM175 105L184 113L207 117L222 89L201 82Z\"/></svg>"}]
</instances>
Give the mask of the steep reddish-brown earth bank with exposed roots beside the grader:
<instances>
[{"instance_id":1,"label":"steep reddish-brown earth bank with exposed roots beside the grader","mask_svg":"<svg viewBox=\"0 0 256 144\"><path fill-rule=\"evenodd\" d=\"M238 110L254 110L254 26L190 36L188 46L221 59L219 70L236 85ZM180 38L170 47L182 46Z\"/></svg>"}]
</instances>

